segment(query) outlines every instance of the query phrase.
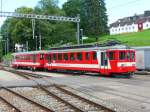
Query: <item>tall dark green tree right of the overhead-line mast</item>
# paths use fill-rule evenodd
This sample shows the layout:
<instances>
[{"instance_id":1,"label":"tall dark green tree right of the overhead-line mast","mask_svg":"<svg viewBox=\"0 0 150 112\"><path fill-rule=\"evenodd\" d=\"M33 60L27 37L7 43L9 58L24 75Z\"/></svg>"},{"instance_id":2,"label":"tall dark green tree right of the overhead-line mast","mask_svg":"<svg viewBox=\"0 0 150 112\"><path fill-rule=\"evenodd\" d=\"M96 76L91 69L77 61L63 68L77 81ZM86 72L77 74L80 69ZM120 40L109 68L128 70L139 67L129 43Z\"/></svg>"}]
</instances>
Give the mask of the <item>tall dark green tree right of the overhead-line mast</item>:
<instances>
[{"instance_id":1,"label":"tall dark green tree right of the overhead-line mast","mask_svg":"<svg viewBox=\"0 0 150 112\"><path fill-rule=\"evenodd\" d=\"M81 19L88 35L99 36L107 33L105 0L83 0Z\"/></svg>"}]
</instances>

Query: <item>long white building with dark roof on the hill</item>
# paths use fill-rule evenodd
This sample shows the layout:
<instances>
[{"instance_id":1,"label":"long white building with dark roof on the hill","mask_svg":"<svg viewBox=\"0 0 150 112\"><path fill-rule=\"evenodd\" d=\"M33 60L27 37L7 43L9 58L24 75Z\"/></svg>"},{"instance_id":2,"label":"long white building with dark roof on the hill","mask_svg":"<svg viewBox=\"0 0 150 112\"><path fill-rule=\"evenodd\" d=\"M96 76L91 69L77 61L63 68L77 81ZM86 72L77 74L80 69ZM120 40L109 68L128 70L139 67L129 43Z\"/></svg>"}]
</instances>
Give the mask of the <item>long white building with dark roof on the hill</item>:
<instances>
[{"instance_id":1,"label":"long white building with dark roof on the hill","mask_svg":"<svg viewBox=\"0 0 150 112\"><path fill-rule=\"evenodd\" d=\"M144 14L119 19L110 24L110 35L138 32L150 28L150 11Z\"/></svg>"}]
</instances>

